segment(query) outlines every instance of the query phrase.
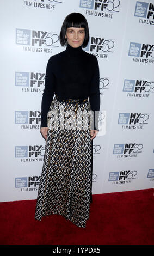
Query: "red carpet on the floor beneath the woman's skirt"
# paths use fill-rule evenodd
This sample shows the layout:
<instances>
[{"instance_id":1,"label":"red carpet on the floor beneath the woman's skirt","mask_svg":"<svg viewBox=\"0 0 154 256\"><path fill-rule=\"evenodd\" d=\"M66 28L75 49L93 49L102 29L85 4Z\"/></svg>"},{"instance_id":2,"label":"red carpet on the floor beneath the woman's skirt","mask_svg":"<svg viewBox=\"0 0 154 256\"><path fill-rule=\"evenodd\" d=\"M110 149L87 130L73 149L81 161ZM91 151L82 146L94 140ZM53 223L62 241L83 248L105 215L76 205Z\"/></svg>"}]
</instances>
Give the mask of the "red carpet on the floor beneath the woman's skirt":
<instances>
[{"instance_id":1,"label":"red carpet on the floor beneath the woman's skirt","mask_svg":"<svg viewBox=\"0 0 154 256\"><path fill-rule=\"evenodd\" d=\"M93 195L87 227L34 220L36 200L0 203L1 245L153 245L153 189Z\"/></svg>"}]
</instances>

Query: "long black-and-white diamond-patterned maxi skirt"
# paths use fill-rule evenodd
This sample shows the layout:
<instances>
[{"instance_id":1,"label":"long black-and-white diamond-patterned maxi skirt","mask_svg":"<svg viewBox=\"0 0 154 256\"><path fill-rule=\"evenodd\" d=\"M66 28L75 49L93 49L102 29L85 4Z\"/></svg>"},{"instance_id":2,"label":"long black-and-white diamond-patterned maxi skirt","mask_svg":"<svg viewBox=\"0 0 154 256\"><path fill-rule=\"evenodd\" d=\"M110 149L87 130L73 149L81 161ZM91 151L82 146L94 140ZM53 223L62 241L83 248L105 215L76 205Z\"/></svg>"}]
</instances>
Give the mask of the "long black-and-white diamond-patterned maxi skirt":
<instances>
[{"instance_id":1,"label":"long black-and-white diamond-patterned maxi skirt","mask_svg":"<svg viewBox=\"0 0 154 256\"><path fill-rule=\"evenodd\" d=\"M93 115L89 100L60 100L56 95L47 119L35 219L58 214L85 228L92 202Z\"/></svg>"}]
</instances>

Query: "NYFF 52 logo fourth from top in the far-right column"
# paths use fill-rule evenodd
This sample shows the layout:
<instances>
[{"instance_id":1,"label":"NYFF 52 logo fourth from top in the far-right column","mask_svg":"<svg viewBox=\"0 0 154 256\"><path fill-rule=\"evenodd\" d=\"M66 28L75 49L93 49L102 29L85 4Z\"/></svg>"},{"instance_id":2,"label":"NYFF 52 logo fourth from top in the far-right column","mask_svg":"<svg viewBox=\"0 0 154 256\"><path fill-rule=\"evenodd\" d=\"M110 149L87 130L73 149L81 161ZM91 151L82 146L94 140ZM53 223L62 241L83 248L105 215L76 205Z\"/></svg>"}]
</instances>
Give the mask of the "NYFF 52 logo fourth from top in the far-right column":
<instances>
[{"instance_id":1,"label":"NYFF 52 logo fourth from top in the far-right column","mask_svg":"<svg viewBox=\"0 0 154 256\"><path fill-rule=\"evenodd\" d=\"M122 125L122 129L143 129L148 119L147 113L119 113L118 124Z\"/></svg>"}]
</instances>

